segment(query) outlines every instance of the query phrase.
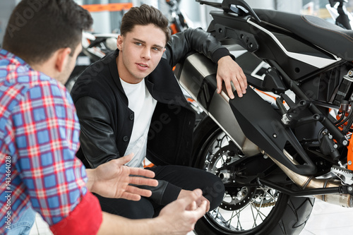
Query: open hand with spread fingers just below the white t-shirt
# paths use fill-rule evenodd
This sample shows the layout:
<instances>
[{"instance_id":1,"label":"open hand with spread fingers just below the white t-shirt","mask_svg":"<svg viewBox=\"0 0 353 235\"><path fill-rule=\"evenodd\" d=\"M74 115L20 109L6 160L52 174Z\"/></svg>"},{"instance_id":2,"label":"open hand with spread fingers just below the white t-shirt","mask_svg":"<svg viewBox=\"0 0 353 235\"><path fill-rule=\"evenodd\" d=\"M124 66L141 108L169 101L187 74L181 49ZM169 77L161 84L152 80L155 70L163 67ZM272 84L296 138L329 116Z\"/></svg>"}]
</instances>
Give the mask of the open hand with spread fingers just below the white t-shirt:
<instances>
[{"instance_id":1,"label":"open hand with spread fingers just below the white t-shirt","mask_svg":"<svg viewBox=\"0 0 353 235\"><path fill-rule=\"evenodd\" d=\"M124 198L140 200L141 196L150 197L152 192L134 185L157 186L153 171L138 167L127 167L124 164L133 158L133 154L113 159L95 169L86 169L88 189L106 198ZM146 178L148 177L148 178Z\"/></svg>"}]
</instances>

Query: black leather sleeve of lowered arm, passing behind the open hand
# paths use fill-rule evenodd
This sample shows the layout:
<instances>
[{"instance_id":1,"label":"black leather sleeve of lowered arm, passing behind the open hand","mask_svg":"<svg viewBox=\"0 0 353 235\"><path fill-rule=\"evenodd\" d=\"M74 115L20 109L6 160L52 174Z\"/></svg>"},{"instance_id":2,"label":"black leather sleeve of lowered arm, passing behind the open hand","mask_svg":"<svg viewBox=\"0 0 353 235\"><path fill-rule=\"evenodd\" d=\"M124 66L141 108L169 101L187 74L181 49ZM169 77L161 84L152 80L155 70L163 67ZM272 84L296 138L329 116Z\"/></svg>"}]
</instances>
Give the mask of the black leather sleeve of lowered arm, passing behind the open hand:
<instances>
[{"instance_id":1,"label":"black leather sleeve of lowered arm, passing behind the open hand","mask_svg":"<svg viewBox=\"0 0 353 235\"><path fill-rule=\"evenodd\" d=\"M76 102L80 121L80 144L90 167L95 168L111 159L122 157L116 146L116 136L104 105L92 97L81 97ZM167 181L158 181L158 186L138 186L152 191L150 198L158 204L167 205L177 199L181 188Z\"/></svg>"}]
</instances>

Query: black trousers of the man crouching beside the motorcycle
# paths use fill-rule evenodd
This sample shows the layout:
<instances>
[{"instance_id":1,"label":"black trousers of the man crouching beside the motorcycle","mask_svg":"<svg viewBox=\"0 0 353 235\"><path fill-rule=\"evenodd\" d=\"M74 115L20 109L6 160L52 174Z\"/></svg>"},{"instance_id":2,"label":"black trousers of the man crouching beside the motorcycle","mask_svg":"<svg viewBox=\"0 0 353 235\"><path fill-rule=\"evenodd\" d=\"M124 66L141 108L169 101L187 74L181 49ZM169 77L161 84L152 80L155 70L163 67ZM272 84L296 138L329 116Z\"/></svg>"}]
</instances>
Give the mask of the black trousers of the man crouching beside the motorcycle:
<instances>
[{"instance_id":1,"label":"black trousers of the man crouching beside the motorcycle","mask_svg":"<svg viewBox=\"0 0 353 235\"><path fill-rule=\"evenodd\" d=\"M152 167L155 172L155 179L164 180L185 190L201 188L203 196L210 201L210 210L215 209L222 202L225 194L225 187L217 176L207 171L192 167L162 166ZM178 193L179 195L179 193ZM172 200L178 197L174 195ZM104 198L96 195L100 200L100 206L104 212L120 215L129 219L145 219L158 215L162 205L157 205L148 198L141 198L139 201Z\"/></svg>"}]
</instances>

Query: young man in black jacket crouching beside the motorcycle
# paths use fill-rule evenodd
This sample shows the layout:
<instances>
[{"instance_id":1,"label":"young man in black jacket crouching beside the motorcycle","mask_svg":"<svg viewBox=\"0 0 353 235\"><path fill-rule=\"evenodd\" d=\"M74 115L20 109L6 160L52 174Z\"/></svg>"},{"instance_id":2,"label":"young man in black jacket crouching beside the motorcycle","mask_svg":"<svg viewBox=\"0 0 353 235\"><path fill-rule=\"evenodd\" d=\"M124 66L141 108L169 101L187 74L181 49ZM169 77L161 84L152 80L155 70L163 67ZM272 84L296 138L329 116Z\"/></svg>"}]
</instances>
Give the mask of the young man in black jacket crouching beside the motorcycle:
<instances>
[{"instance_id":1,"label":"young man in black jacket crouching beside the motorcycle","mask_svg":"<svg viewBox=\"0 0 353 235\"><path fill-rule=\"evenodd\" d=\"M128 166L142 167L148 157L157 165L151 170L159 184L149 188L150 198L138 202L97 195L102 210L133 219L153 217L160 207L195 188L203 189L198 203L206 200L210 210L215 209L225 193L222 181L184 167L191 158L195 113L172 67L188 52L201 52L218 64L218 92L222 80L227 88L232 81L240 97L246 92L241 68L204 30L188 29L170 37L167 18L147 5L124 15L117 47L86 69L71 91L81 126L78 157L95 168L133 152Z\"/></svg>"}]
</instances>

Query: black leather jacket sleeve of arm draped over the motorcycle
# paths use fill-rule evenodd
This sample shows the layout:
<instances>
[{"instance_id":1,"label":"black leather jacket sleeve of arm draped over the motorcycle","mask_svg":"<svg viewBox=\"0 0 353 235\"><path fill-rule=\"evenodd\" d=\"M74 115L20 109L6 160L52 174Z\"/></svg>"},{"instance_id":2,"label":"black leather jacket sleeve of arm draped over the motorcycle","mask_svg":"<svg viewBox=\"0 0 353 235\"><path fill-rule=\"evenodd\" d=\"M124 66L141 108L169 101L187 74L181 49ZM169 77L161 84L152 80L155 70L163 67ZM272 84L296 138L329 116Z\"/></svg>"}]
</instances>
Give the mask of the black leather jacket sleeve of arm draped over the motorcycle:
<instances>
[{"instance_id":1,"label":"black leather jacket sleeve of arm draped over the motorcycle","mask_svg":"<svg viewBox=\"0 0 353 235\"><path fill-rule=\"evenodd\" d=\"M163 58L173 67L191 51L200 52L215 63L223 56L232 56L209 32L201 28L188 28L170 37Z\"/></svg>"}]
</instances>

